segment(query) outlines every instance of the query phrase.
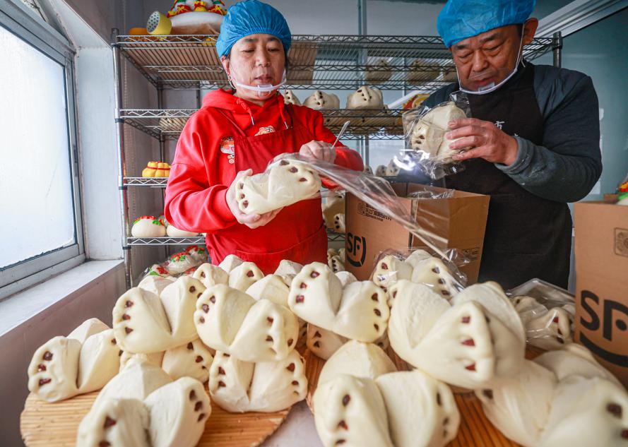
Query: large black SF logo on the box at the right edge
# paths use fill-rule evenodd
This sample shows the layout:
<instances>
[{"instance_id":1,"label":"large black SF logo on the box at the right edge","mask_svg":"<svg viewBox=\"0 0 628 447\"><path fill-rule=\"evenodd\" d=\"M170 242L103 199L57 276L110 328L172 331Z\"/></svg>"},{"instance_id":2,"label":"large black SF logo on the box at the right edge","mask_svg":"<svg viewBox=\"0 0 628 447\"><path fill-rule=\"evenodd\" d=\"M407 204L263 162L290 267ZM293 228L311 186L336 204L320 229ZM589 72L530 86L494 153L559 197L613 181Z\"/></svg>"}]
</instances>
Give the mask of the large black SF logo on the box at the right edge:
<instances>
[{"instance_id":1,"label":"large black SF logo on the box at the right edge","mask_svg":"<svg viewBox=\"0 0 628 447\"><path fill-rule=\"evenodd\" d=\"M585 314L580 316L580 342L588 347L593 354L612 364L628 368L628 356L610 352L600 347L596 342L588 338L583 330L595 333L602 328L602 336L608 342L617 343L626 352L628 330L628 306L612 299L602 300L590 290L583 290L580 294L580 305ZM601 318L600 318L601 316ZM588 317L588 318L587 318ZM622 341L620 341L622 340Z\"/></svg>"}]
</instances>

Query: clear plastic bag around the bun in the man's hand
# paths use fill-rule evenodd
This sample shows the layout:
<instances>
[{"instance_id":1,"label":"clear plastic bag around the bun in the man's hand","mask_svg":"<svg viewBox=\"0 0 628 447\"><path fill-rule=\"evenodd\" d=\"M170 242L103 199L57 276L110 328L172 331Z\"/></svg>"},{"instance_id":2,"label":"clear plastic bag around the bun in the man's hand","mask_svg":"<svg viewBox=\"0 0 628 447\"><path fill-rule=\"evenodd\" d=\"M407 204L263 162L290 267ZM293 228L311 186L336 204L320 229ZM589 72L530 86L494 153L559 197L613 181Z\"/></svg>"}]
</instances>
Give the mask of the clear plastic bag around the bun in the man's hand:
<instances>
[{"instance_id":1,"label":"clear plastic bag around the bun in the man's hand","mask_svg":"<svg viewBox=\"0 0 628 447\"><path fill-rule=\"evenodd\" d=\"M402 115L405 150L395 158L396 165L405 171L418 171L431 179L461 172L463 165L452 158L461 150L449 149L445 137L452 119L470 117L470 106L465 93L454 92L450 100L429 108L421 106Z\"/></svg>"}]
</instances>

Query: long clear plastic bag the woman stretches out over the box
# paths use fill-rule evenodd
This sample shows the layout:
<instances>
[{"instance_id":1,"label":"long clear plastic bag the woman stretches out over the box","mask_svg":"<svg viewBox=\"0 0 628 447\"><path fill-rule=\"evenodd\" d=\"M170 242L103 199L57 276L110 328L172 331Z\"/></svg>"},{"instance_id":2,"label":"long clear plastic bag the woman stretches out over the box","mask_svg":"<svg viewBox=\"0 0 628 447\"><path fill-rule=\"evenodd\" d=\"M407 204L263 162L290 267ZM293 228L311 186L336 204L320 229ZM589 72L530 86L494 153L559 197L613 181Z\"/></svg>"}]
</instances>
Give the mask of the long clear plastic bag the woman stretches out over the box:
<instances>
[{"instance_id":1,"label":"long clear plastic bag the woman stretches out over the box","mask_svg":"<svg viewBox=\"0 0 628 447\"><path fill-rule=\"evenodd\" d=\"M413 216L410 215L410 211L399 200L391 184L385 179L293 153L283 154L278 160L271 162L266 172L273 169L273 166L281 165L286 160L290 160L293 165L308 167L316 171L319 176L326 177L338 184L340 188L351 192L379 212L401 224L405 230L420 240L420 245L427 246L432 253L444 260L454 263L464 262L465 257L461 252L447 248L449 240L446 237L417 225Z\"/></svg>"}]
</instances>

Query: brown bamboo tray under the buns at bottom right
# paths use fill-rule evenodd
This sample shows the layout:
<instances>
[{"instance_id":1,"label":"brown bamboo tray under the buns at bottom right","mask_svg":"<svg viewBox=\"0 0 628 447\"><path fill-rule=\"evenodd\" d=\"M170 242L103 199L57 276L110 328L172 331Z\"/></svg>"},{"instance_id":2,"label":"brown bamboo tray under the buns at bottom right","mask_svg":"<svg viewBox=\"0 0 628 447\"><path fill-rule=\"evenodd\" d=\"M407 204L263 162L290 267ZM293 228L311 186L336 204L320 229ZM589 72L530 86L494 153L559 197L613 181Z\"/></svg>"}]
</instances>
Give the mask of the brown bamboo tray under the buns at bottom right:
<instances>
[{"instance_id":1,"label":"brown bamboo tray under the buns at bottom right","mask_svg":"<svg viewBox=\"0 0 628 447\"><path fill-rule=\"evenodd\" d=\"M533 359L542 352L528 347L526 358ZM400 359L391 347L386 350L386 354L389 355L399 371L410 370L408 364ZM312 398L325 360L316 357L309 350L304 352L303 357L305 359L305 375L308 381L306 400L309 409L312 410ZM458 436L447 447L520 447L518 443L506 438L501 431L491 424L484 415L480 399L476 398L474 393L456 393L454 388L454 398L456 398L456 405L460 411L460 427L458 428Z\"/></svg>"}]
</instances>

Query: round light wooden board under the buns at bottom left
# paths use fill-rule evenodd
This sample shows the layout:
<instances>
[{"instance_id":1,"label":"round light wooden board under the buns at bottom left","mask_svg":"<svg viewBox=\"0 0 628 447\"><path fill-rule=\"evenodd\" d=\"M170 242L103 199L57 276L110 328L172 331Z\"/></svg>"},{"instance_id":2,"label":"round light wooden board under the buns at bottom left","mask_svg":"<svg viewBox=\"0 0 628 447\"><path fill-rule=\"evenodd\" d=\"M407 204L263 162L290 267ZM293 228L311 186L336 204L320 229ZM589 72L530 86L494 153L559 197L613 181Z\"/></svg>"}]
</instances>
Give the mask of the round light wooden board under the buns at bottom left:
<instances>
[{"instance_id":1,"label":"round light wooden board under the buns at bottom left","mask_svg":"<svg viewBox=\"0 0 628 447\"><path fill-rule=\"evenodd\" d=\"M73 447L83 416L98 392L78 395L57 403L26 398L20 431L27 447ZM271 436L288 417L290 409L274 413L229 413L213 404L197 447L254 447Z\"/></svg>"}]
</instances>

